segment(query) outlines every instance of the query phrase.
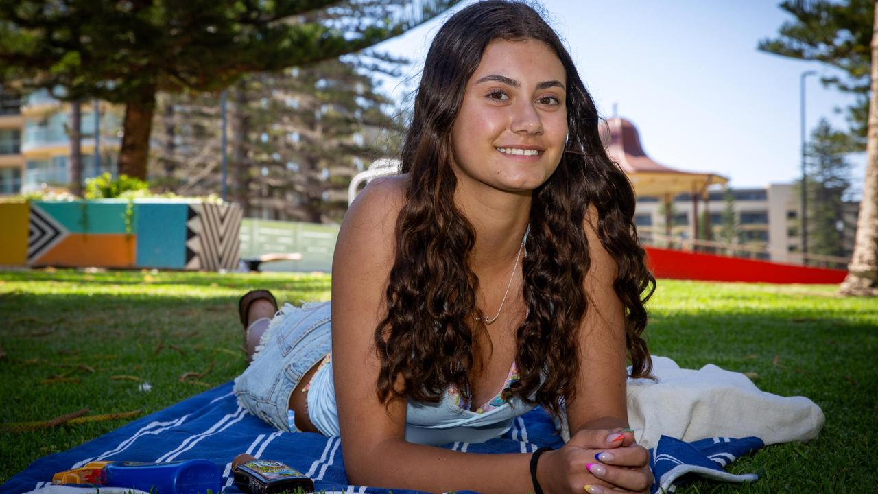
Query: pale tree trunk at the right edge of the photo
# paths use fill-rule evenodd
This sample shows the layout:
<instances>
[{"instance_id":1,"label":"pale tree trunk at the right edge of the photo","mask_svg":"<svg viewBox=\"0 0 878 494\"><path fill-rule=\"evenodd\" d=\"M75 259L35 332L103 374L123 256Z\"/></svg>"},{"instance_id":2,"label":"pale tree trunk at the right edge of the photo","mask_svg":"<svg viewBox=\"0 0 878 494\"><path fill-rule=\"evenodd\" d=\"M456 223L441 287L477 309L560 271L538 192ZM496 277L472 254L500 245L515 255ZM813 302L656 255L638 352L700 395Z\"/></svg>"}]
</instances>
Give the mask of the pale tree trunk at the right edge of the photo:
<instances>
[{"instance_id":1,"label":"pale tree trunk at the right edge of the photo","mask_svg":"<svg viewBox=\"0 0 878 494\"><path fill-rule=\"evenodd\" d=\"M847 277L838 290L845 295L878 295L878 36L874 34L878 29L878 9L874 16L866 179L853 257L847 266Z\"/></svg>"}]
</instances>

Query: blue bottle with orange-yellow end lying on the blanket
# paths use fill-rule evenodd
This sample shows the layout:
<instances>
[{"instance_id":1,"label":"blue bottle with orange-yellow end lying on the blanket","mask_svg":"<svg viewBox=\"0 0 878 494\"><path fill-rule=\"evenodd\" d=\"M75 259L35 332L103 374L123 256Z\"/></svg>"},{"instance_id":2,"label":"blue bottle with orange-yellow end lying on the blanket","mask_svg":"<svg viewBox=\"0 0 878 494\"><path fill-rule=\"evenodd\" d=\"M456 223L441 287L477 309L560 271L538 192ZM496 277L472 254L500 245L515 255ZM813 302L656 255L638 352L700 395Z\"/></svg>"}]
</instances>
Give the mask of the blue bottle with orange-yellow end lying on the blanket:
<instances>
[{"instance_id":1,"label":"blue bottle with orange-yellow end lying on the blanket","mask_svg":"<svg viewBox=\"0 0 878 494\"><path fill-rule=\"evenodd\" d=\"M92 461L82 468L54 475L52 483L90 483L145 490L153 494L218 494L222 472L209 460L143 463Z\"/></svg>"}]
</instances>

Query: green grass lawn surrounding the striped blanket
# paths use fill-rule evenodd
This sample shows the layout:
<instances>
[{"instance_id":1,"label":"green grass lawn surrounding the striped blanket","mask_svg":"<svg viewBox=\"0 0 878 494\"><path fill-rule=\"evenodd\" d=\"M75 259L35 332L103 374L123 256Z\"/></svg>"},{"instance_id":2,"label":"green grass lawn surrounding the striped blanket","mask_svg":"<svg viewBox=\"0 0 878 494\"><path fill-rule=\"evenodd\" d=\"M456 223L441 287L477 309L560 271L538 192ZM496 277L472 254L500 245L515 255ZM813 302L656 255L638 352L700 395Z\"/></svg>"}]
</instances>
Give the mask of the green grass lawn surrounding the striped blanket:
<instances>
[{"instance_id":1,"label":"green grass lawn surrounding the striped blanket","mask_svg":"<svg viewBox=\"0 0 878 494\"><path fill-rule=\"evenodd\" d=\"M327 300L326 275L184 272L0 272L4 423L140 410L143 417L230 381L244 369L237 298ZM659 280L651 352L681 367L752 373L760 389L809 396L826 415L817 440L766 447L730 471L744 486L693 483L679 493L874 492L878 485L878 301L835 287ZM190 376L186 373L205 373ZM148 382L149 392L139 390ZM32 461L133 418L0 431L0 482Z\"/></svg>"}]
</instances>

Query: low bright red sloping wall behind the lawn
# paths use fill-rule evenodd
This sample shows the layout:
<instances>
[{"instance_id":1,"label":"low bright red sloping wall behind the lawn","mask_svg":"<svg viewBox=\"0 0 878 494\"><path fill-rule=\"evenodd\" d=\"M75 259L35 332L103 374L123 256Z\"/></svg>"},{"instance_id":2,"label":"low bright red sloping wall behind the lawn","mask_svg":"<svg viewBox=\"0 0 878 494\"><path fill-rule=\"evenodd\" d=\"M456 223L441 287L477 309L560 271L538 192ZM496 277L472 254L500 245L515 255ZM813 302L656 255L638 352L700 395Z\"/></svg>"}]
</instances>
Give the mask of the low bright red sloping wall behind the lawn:
<instances>
[{"instance_id":1,"label":"low bright red sloping wall behind the lawn","mask_svg":"<svg viewBox=\"0 0 878 494\"><path fill-rule=\"evenodd\" d=\"M752 283L841 283L841 269L781 265L752 259L728 258L699 252L646 247L647 264L656 278L676 280L745 281Z\"/></svg>"}]
</instances>

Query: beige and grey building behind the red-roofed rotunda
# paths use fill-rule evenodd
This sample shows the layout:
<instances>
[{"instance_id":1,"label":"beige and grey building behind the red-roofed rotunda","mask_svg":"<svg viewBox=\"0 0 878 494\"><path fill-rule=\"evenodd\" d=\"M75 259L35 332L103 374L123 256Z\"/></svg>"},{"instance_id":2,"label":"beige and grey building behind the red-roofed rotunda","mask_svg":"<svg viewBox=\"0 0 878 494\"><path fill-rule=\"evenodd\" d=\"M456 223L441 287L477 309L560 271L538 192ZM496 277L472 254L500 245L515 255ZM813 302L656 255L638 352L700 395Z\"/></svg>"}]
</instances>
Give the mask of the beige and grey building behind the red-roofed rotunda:
<instances>
[{"instance_id":1,"label":"beige and grey building behind the red-roofed rotunda","mask_svg":"<svg viewBox=\"0 0 878 494\"><path fill-rule=\"evenodd\" d=\"M801 198L793 184L771 184L766 188L730 189L738 216L738 242L753 248L752 257L774 262L801 264L802 236L800 231ZM715 239L723 228L726 192L711 191L709 200L703 200L699 215L709 212ZM689 239L693 232L692 197L680 194L672 202L671 236ZM846 211L839 219L846 252L853 251L859 203L846 203ZM666 234L666 209L659 198L637 199L635 222L641 236Z\"/></svg>"}]
</instances>

